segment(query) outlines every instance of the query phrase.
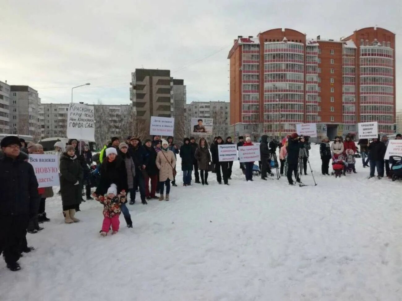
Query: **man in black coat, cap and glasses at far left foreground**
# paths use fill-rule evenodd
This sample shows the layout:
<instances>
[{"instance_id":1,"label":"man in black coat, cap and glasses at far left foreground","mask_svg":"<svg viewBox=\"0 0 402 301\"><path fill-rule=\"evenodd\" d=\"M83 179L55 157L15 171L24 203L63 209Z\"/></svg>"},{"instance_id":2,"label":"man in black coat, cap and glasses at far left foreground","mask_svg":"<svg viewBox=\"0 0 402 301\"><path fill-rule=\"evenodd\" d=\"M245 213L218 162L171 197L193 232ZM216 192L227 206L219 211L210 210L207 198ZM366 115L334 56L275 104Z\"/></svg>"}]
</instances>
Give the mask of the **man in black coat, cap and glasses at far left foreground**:
<instances>
[{"instance_id":1,"label":"man in black coat, cap and glasses at far left foreground","mask_svg":"<svg viewBox=\"0 0 402 301\"><path fill-rule=\"evenodd\" d=\"M27 234L29 218L37 214L40 197L33 167L20 155L21 142L16 136L6 136L0 143L0 253L7 267L20 270L17 263L21 244Z\"/></svg>"}]
</instances>

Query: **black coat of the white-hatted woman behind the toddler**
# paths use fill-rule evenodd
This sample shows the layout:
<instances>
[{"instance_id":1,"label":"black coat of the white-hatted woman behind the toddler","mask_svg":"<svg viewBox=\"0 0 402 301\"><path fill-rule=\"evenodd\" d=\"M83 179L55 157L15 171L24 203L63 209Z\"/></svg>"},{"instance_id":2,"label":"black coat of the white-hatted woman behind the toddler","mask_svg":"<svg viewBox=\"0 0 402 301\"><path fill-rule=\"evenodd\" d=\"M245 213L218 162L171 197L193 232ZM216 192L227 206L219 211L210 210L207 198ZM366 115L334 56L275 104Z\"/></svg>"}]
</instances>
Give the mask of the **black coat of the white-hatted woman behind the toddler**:
<instances>
[{"instance_id":1,"label":"black coat of the white-hatted woman behind the toddler","mask_svg":"<svg viewBox=\"0 0 402 301\"><path fill-rule=\"evenodd\" d=\"M113 162L103 161L100 166L99 185L96 187L95 193L97 195L104 195L111 184L116 184L117 193L120 193L122 190L128 191L127 169L124 160L119 156Z\"/></svg>"}]
</instances>

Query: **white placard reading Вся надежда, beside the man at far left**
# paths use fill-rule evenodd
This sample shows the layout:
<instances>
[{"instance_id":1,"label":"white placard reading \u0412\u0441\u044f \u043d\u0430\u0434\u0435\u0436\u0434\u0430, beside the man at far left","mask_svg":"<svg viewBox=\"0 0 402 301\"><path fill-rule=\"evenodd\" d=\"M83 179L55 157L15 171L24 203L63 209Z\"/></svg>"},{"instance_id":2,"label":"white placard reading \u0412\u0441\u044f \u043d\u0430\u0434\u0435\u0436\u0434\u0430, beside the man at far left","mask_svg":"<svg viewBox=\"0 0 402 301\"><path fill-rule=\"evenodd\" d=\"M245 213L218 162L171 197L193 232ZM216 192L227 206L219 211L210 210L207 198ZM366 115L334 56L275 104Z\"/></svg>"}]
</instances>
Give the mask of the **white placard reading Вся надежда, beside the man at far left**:
<instances>
[{"instance_id":1,"label":"white placard reading \u0412\u0441\u044f \u043d\u0430\u0434\u0435\u0436\u0434\u0430, beside the man at far left","mask_svg":"<svg viewBox=\"0 0 402 301\"><path fill-rule=\"evenodd\" d=\"M39 188L60 185L57 155L29 155Z\"/></svg>"}]
</instances>

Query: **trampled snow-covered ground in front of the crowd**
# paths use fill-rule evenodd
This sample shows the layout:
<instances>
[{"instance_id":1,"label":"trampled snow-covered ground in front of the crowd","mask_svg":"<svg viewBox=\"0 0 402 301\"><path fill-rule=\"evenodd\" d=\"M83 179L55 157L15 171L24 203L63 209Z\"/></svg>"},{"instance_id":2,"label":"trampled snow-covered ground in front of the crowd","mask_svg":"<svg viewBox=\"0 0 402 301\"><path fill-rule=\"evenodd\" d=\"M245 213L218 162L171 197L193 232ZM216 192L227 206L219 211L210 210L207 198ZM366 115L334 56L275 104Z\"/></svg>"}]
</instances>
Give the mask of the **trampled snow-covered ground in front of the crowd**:
<instances>
[{"instance_id":1,"label":"trampled snow-covered ground in front of the crowd","mask_svg":"<svg viewBox=\"0 0 402 301\"><path fill-rule=\"evenodd\" d=\"M102 205L83 203L66 225L48 199L23 269L0 260L0 299L402 300L401 181L367 179L359 159L357 174L322 176L310 153L316 187L246 183L238 162L230 186L210 174L208 187L183 187L179 171L169 202L128 205L134 228L121 215L106 238Z\"/></svg>"}]
</instances>

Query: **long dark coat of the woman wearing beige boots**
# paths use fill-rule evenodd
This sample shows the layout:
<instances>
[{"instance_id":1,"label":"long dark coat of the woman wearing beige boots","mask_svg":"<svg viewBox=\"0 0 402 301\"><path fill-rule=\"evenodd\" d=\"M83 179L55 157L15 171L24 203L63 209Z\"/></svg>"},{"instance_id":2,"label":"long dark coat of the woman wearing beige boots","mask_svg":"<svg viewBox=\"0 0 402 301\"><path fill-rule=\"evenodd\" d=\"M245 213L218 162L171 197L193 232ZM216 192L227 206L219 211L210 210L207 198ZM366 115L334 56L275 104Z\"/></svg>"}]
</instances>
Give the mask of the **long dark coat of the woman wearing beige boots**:
<instances>
[{"instance_id":1,"label":"long dark coat of the woman wearing beige boots","mask_svg":"<svg viewBox=\"0 0 402 301\"><path fill-rule=\"evenodd\" d=\"M70 157L67 153L60 156L60 192L63 206L77 205L81 203L81 187L74 185L82 181L83 172L78 157Z\"/></svg>"}]
</instances>

